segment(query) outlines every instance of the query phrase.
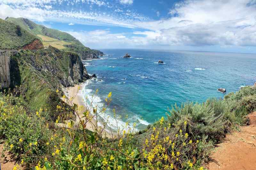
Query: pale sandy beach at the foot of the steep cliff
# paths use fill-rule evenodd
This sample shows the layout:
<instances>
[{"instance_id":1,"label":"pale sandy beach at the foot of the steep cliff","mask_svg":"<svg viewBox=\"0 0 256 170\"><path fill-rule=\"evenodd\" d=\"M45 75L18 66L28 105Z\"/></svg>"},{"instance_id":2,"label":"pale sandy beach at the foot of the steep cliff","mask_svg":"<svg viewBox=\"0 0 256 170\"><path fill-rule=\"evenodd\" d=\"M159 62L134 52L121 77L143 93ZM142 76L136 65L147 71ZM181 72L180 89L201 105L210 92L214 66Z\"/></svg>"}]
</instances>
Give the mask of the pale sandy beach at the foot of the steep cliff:
<instances>
[{"instance_id":1,"label":"pale sandy beach at the foot of the steep cliff","mask_svg":"<svg viewBox=\"0 0 256 170\"><path fill-rule=\"evenodd\" d=\"M70 102L71 101L71 98L72 98L72 103L68 103L69 105L73 106L73 103L76 104L78 107L81 107L83 106L84 108L86 108L85 106L85 103L84 103L84 99L83 99L83 96L81 95L81 91L82 89L84 88L85 86L85 83L79 83L79 84L76 84L74 86L70 86L70 87L65 87L65 88L62 88L62 91L64 92L65 96L67 97L68 101ZM62 100L64 102L66 102L63 98ZM82 112L84 110L80 110L79 112L79 115L81 116L84 116L82 115ZM96 127L96 118L95 116L93 116L91 113L90 113L90 116L92 117L91 121L89 121L86 125L86 129L90 130L90 131L94 131L94 127ZM80 121L79 117L76 115L76 124L78 124ZM100 130L100 127L99 124L98 124L98 129ZM108 137L108 138L114 138L116 136L116 134L114 132L108 132L106 129L103 130L102 132L102 136L103 137Z\"/></svg>"}]
</instances>

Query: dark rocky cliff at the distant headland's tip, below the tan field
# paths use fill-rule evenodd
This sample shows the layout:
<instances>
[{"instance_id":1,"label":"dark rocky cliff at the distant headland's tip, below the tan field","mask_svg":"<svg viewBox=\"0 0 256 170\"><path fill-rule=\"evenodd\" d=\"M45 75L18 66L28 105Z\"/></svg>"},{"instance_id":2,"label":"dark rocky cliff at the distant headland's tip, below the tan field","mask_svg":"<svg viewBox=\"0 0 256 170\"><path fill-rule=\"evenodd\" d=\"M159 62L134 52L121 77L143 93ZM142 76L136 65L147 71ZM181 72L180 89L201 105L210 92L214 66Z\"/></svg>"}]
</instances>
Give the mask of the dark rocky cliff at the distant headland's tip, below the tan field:
<instances>
[{"instance_id":1,"label":"dark rocky cliff at the distant headland's tip, below the tan field","mask_svg":"<svg viewBox=\"0 0 256 170\"><path fill-rule=\"evenodd\" d=\"M76 52L82 60L96 59L99 58L100 55L103 55L103 52L99 50L90 49L88 47L78 46L74 44L65 46L67 47L65 48L66 51Z\"/></svg>"}]
</instances>

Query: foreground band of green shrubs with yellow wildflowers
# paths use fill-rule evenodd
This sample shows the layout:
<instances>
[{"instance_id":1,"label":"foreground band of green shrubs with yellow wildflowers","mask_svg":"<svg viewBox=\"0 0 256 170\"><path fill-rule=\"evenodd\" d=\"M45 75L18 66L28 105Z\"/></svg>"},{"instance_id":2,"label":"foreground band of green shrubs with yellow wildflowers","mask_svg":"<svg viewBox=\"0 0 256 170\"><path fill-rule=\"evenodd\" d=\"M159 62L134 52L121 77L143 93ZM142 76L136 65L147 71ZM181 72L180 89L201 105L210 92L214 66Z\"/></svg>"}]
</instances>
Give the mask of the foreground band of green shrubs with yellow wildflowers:
<instances>
[{"instance_id":1,"label":"foreground band of green shrubs with yellow wildflowers","mask_svg":"<svg viewBox=\"0 0 256 170\"><path fill-rule=\"evenodd\" d=\"M62 96L58 89L56 94ZM223 100L212 98L203 103L174 106L166 119L162 117L142 132L135 132L136 124L130 126L127 122L126 127L117 127L117 133L110 129L110 137L106 138L106 124L99 127L92 116L105 112L111 95L110 92L102 110L93 107L92 101L86 107L71 104L72 99L69 101L64 95L78 121L66 121L67 116L60 116L54 123L46 121L50 113L45 109L31 111L9 93L0 102L0 134L5 139L5 148L20 164L36 170L203 170L200 164L207 160L213 145L227 132L245 124L246 115L256 109L256 87L248 86ZM55 112L63 110L69 108L60 104ZM60 126L60 122L66 125ZM86 130L91 123L94 132Z\"/></svg>"}]
</instances>

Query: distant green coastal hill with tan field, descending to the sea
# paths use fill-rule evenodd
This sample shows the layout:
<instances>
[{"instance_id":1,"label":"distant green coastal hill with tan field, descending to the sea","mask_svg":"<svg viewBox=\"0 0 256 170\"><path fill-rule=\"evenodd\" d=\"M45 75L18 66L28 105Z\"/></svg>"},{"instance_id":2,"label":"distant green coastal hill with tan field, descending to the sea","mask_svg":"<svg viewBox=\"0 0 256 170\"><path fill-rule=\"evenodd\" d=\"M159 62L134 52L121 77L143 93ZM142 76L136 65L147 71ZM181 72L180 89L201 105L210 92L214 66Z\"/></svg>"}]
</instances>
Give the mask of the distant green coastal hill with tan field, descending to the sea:
<instances>
[{"instance_id":1,"label":"distant green coastal hill with tan field, descending to the sea","mask_svg":"<svg viewBox=\"0 0 256 170\"><path fill-rule=\"evenodd\" d=\"M83 60L94 59L103 55L99 50L93 50L85 47L80 41L68 33L36 24L27 18L7 17L5 20L20 26L23 30L28 31L31 34L34 34L34 36L43 42L45 47L51 45L52 47L63 51L76 52Z\"/></svg>"}]
</instances>

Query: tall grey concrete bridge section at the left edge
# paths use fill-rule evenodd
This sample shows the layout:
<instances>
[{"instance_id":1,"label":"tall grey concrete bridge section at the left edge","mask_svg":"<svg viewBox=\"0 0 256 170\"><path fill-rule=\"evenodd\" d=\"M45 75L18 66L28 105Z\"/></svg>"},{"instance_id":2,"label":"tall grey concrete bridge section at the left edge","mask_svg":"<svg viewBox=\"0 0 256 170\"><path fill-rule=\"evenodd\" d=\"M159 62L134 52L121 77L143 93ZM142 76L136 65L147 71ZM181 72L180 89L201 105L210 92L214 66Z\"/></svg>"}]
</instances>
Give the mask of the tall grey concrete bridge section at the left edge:
<instances>
[{"instance_id":1,"label":"tall grey concrete bridge section at the left edge","mask_svg":"<svg viewBox=\"0 0 256 170\"><path fill-rule=\"evenodd\" d=\"M17 54L17 50L0 50L0 89L10 87L10 58Z\"/></svg>"}]
</instances>

